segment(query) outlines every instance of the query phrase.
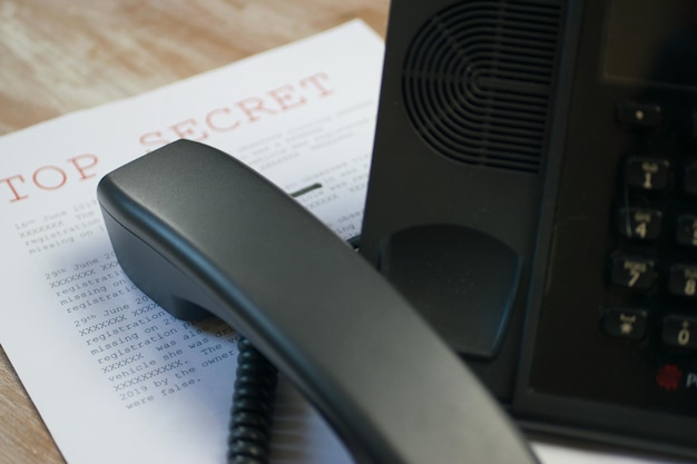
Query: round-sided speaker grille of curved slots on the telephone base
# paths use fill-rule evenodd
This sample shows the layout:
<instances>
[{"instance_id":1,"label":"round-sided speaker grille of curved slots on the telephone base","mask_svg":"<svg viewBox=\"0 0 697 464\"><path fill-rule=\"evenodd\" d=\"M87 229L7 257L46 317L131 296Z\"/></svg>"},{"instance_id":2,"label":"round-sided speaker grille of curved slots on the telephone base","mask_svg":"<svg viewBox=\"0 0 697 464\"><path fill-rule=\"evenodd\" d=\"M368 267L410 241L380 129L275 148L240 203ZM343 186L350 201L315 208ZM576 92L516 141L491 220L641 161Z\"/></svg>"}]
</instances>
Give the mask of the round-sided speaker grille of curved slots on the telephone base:
<instances>
[{"instance_id":1,"label":"round-sided speaker grille of curved slots on the telephone base","mask_svg":"<svg viewBox=\"0 0 697 464\"><path fill-rule=\"evenodd\" d=\"M559 6L507 0L426 20L402 77L415 130L457 160L539 171L560 20Z\"/></svg>"}]
</instances>

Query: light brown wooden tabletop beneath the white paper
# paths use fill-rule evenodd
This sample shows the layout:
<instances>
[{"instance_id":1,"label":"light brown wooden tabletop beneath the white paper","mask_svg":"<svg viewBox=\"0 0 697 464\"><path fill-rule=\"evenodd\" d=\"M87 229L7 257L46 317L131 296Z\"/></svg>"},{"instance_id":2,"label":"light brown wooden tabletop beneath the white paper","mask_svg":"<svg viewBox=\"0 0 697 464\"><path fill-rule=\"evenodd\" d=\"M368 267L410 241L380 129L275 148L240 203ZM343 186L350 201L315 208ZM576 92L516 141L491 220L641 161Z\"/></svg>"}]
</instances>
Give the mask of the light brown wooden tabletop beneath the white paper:
<instances>
[{"instance_id":1,"label":"light brown wooden tabletop beneath the white paper","mask_svg":"<svg viewBox=\"0 0 697 464\"><path fill-rule=\"evenodd\" d=\"M387 10L389 0L0 0L0 135L354 18L384 37ZM0 349L0 464L63 462Z\"/></svg>"}]
</instances>

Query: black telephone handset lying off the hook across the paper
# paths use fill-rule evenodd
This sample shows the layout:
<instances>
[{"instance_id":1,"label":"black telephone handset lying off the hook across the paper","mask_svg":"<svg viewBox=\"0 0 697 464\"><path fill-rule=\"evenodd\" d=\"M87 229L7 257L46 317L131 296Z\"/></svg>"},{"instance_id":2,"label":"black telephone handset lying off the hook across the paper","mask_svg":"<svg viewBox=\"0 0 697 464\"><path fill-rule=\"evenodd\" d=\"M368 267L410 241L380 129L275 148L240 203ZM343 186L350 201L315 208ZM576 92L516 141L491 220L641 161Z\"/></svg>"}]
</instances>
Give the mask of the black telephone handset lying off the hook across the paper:
<instances>
[{"instance_id":1,"label":"black telephone handset lying off the hook across the paper","mask_svg":"<svg viewBox=\"0 0 697 464\"><path fill-rule=\"evenodd\" d=\"M130 278L177 317L210 312L238 329L356 462L537 462L410 304L239 161L179 140L107 175L98 198Z\"/></svg>"}]
</instances>

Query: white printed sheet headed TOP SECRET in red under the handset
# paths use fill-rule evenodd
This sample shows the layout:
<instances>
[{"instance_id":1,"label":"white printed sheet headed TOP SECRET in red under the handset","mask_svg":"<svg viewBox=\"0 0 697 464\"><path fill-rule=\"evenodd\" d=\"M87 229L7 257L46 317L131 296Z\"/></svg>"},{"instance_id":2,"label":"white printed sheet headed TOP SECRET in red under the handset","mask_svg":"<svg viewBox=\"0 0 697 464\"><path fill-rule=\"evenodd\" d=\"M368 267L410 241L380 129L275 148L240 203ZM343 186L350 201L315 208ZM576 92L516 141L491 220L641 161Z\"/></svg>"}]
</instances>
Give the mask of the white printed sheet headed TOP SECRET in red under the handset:
<instances>
[{"instance_id":1,"label":"white printed sheet headed TOP SECRET in red under the handset","mask_svg":"<svg viewBox=\"0 0 697 464\"><path fill-rule=\"evenodd\" d=\"M222 463L235 334L169 316L119 267L98 180L179 138L252 166L359 233L382 39L364 23L0 138L0 343L70 464ZM348 462L281 387L274 454Z\"/></svg>"}]
</instances>

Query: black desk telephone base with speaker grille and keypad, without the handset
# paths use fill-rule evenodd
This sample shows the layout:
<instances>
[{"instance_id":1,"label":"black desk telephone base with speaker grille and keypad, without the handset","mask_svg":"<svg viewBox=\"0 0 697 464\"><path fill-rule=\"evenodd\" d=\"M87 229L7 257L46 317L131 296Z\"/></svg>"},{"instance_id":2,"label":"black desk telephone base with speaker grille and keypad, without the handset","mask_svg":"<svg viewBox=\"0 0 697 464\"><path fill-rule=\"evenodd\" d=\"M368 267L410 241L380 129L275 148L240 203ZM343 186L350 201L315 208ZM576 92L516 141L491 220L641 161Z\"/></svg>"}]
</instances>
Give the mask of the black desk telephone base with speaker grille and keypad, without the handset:
<instances>
[{"instance_id":1,"label":"black desk telephone base with speaker grille and keypad, without the handset","mask_svg":"<svg viewBox=\"0 0 697 464\"><path fill-rule=\"evenodd\" d=\"M695 2L393 3L361 253L523 426L697 456L696 237Z\"/></svg>"}]
</instances>

